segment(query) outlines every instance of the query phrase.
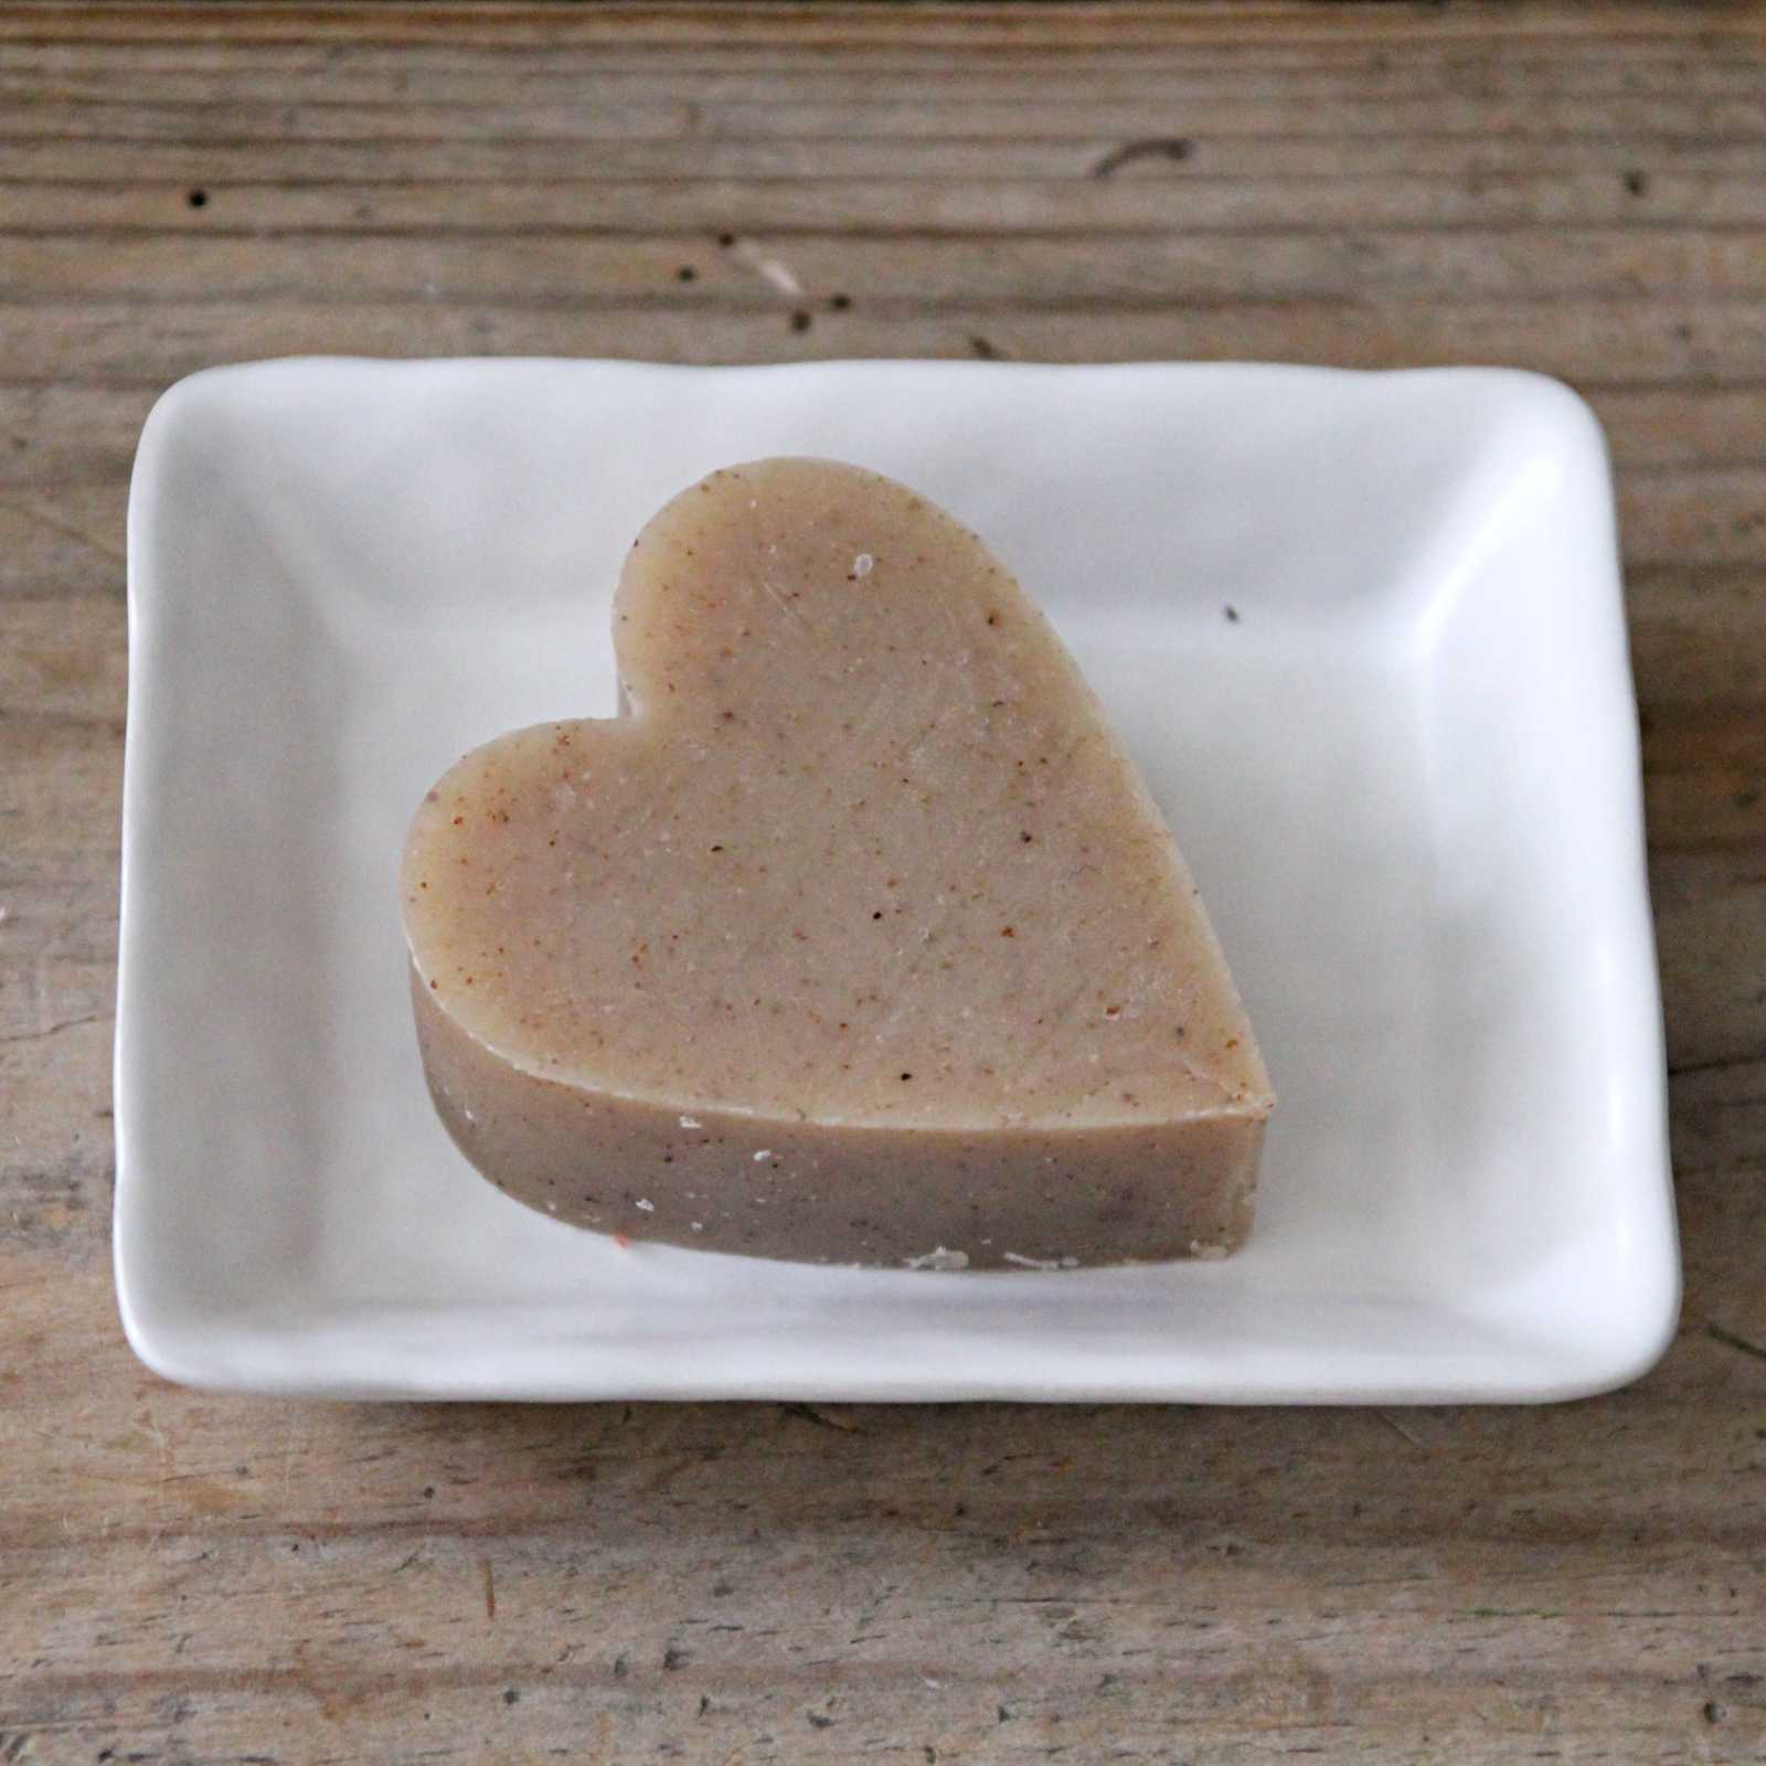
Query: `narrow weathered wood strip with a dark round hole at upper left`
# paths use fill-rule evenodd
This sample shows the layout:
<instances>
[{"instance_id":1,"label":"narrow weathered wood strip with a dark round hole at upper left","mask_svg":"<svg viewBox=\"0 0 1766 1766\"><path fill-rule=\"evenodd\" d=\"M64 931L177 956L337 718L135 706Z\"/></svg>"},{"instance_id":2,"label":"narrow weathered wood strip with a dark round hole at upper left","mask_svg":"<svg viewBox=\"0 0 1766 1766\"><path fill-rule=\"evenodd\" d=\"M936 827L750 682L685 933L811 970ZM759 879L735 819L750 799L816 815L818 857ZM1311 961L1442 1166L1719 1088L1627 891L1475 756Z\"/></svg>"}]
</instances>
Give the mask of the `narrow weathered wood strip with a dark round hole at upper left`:
<instances>
[{"instance_id":1,"label":"narrow weathered wood strip with a dark round hole at upper left","mask_svg":"<svg viewBox=\"0 0 1766 1766\"><path fill-rule=\"evenodd\" d=\"M904 143L909 145L909 143ZM1061 177L883 173L860 177L556 177L473 182L374 177L286 182L237 177L212 155L185 161L187 177L143 177L125 148L108 152L111 178L57 177L60 155L34 155L41 177L0 178L0 237L35 233L175 233L274 237L344 233L487 238L519 233L666 235L715 240L766 230L871 237L954 233L1206 233L1363 231L1528 226L1755 228L1766 224L1766 159L1754 170L1644 170L1655 155L1607 152L1605 164L1554 171L1236 173L1150 155L1109 177L1086 177L1077 155ZM11 157L11 155L9 155ZM894 159L894 155L890 155ZM971 155L962 150L968 161ZM1208 155L1213 157L1213 155ZM55 162L51 162L55 161ZM256 162L267 168L265 155ZM1095 161L1093 164L1102 162ZM1639 164L1642 162L1642 164ZM88 164L90 171L90 164ZM201 201L192 205L191 192Z\"/></svg>"}]
</instances>

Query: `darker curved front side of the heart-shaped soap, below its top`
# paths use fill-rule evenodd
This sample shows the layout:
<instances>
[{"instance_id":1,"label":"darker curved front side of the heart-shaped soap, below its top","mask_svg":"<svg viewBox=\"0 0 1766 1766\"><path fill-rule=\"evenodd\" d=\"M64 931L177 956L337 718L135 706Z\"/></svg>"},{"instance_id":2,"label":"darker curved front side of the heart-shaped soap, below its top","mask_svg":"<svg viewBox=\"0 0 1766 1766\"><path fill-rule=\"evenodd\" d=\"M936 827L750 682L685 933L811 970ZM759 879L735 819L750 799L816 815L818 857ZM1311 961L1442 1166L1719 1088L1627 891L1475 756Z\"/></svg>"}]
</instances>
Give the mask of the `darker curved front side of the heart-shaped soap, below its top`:
<instances>
[{"instance_id":1,"label":"darker curved front side of the heart-shaped soap, below its top","mask_svg":"<svg viewBox=\"0 0 1766 1766\"><path fill-rule=\"evenodd\" d=\"M1109 1128L828 1128L632 1104L514 1072L420 985L436 1109L507 1196L696 1250L885 1268L1095 1268L1226 1256L1263 1118Z\"/></svg>"}]
</instances>

